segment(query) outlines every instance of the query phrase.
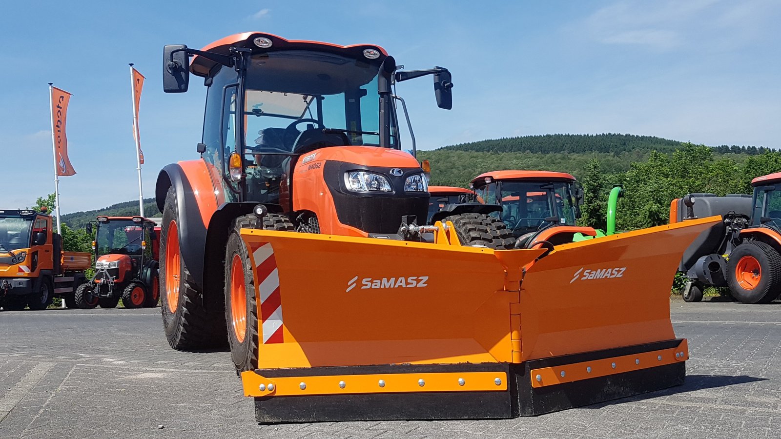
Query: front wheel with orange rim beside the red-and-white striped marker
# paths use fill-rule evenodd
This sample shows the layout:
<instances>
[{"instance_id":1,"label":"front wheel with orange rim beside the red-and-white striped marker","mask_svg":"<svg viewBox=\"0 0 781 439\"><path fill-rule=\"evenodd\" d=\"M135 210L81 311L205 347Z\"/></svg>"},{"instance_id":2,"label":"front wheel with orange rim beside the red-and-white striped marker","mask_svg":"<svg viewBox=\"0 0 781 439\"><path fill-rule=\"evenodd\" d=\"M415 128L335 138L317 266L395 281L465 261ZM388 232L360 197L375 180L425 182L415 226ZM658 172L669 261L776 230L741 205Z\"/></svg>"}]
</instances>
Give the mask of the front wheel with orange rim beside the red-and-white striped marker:
<instances>
[{"instance_id":1,"label":"front wheel with orange rim beside the red-and-white striped marker","mask_svg":"<svg viewBox=\"0 0 781 439\"><path fill-rule=\"evenodd\" d=\"M242 228L295 231L290 219L276 213L269 213L262 219L255 215L234 219L225 249L225 320L236 373L258 366L259 337L262 336L258 327L255 281L249 251L241 239ZM277 330L281 331L281 328ZM278 337L276 332L268 336Z\"/></svg>"}]
</instances>

